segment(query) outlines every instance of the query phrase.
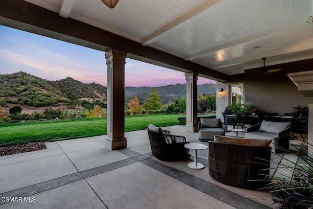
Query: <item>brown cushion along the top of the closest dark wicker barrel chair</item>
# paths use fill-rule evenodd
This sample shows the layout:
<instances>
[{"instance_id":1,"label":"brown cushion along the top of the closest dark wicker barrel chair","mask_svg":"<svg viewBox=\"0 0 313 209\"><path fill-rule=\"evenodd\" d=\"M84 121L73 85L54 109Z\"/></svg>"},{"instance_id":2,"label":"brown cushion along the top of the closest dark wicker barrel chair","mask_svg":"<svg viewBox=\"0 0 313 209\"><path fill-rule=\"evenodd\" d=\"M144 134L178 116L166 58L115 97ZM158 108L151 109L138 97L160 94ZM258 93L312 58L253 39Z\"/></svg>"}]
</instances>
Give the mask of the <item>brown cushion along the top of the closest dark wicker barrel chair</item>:
<instances>
[{"instance_id":1,"label":"brown cushion along the top of the closest dark wicker barrel chair","mask_svg":"<svg viewBox=\"0 0 313 209\"><path fill-rule=\"evenodd\" d=\"M246 138L236 138L236 137L224 137L224 136L214 136L214 141L229 143L229 144L239 144L239 145L254 145L254 146L269 146L271 139L246 139Z\"/></svg>"}]
</instances>

